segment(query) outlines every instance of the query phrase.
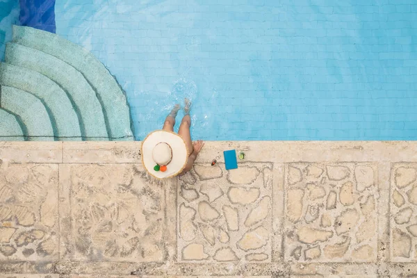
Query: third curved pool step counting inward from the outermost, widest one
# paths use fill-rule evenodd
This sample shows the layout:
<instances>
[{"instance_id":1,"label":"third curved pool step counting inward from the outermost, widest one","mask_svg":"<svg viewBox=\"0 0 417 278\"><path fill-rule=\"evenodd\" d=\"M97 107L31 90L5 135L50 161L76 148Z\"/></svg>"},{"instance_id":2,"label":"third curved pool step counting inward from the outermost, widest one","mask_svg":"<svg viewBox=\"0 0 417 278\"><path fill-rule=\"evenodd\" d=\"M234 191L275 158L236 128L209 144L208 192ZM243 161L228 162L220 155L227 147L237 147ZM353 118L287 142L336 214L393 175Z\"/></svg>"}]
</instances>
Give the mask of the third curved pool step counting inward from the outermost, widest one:
<instances>
[{"instance_id":1,"label":"third curved pool step counting inward from the outermost, widest one","mask_svg":"<svg viewBox=\"0 0 417 278\"><path fill-rule=\"evenodd\" d=\"M57 140L82 139L79 118L70 99L51 79L33 70L0 63L0 85L30 92L38 97L49 113Z\"/></svg>"}]
</instances>

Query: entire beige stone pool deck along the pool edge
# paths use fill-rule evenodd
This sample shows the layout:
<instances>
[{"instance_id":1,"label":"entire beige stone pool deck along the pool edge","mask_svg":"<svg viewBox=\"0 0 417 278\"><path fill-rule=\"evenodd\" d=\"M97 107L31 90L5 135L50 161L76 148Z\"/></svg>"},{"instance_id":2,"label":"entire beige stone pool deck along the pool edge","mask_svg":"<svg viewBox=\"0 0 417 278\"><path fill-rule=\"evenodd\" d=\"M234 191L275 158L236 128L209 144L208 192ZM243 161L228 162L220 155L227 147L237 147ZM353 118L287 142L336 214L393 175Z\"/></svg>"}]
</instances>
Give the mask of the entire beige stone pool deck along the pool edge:
<instances>
[{"instance_id":1,"label":"entire beige stone pool deck along the pool edge","mask_svg":"<svg viewBox=\"0 0 417 278\"><path fill-rule=\"evenodd\" d=\"M417 277L416 179L417 142L206 142L167 181L140 142L0 142L0 277Z\"/></svg>"}]
</instances>

